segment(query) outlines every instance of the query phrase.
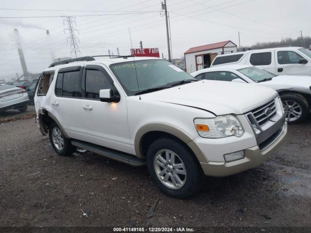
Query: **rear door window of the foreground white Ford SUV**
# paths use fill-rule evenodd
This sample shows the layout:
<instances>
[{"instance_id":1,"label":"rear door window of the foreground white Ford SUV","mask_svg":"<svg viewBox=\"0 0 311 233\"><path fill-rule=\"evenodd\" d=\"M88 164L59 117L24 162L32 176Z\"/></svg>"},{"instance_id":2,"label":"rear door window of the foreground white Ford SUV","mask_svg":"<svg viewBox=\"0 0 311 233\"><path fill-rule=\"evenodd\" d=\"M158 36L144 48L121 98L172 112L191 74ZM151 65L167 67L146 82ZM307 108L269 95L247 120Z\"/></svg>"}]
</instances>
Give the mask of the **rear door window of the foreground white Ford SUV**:
<instances>
[{"instance_id":1,"label":"rear door window of the foreground white Ford SUV","mask_svg":"<svg viewBox=\"0 0 311 233\"><path fill-rule=\"evenodd\" d=\"M82 97L82 77L80 71L65 72L63 75L63 95L65 97Z\"/></svg>"}]
</instances>

